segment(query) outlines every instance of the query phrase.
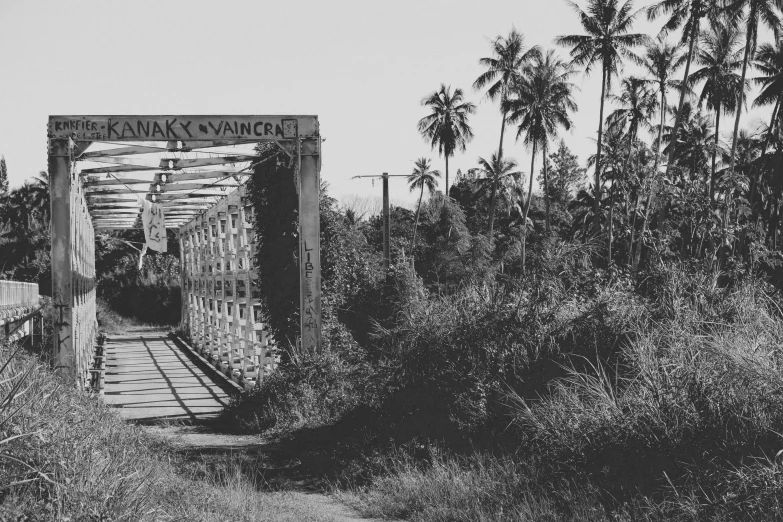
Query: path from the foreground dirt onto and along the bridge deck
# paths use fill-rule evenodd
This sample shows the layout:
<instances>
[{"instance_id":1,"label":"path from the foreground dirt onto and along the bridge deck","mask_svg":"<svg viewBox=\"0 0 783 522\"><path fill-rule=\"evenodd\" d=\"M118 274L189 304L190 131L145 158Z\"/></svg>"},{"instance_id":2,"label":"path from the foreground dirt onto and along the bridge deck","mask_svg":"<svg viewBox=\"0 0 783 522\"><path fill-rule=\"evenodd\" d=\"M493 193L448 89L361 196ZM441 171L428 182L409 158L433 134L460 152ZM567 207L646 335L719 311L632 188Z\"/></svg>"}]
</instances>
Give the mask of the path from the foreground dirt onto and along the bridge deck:
<instances>
[{"instance_id":1,"label":"path from the foreground dirt onto and along the bridge deck","mask_svg":"<svg viewBox=\"0 0 783 522\"><path fill-rule=\"evenodd\" d=\"M219 433L216 416L236 387L166 332L139 328L112 336L107 355L106 403L121 408L126 420L167 440L184 457L190 474L203 475L204 480L239 476L244 483L257 485L243 493L254 498L239 501L265 506L263 520L373 520L318 491L308 477L289 473L299 462L281 462L268 441Z\"/></svg>"}]
</instances>

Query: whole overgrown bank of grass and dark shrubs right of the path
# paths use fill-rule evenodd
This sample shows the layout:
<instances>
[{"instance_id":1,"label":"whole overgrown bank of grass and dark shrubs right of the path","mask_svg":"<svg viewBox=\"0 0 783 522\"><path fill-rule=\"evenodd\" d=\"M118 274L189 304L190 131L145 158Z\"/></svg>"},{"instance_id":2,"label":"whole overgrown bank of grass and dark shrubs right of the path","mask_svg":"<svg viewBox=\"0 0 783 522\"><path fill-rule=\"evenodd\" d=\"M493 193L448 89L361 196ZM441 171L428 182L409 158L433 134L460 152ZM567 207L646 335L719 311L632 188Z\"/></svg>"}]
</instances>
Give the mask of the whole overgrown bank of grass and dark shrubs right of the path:
<instances>
[{"instance_id":1,"label":"whole overgrown bank of grass and dark shrubs right of the path","mask_svg":"<svg viewBox=\"0 0 783 522\"><path fill-rule=\"evenodd\" d=\"M682 266L567 270L429 299L379 329L371 371L307 361L227 415L370 516L783 520L774 289Z\"/></svg>"}]
</instances>

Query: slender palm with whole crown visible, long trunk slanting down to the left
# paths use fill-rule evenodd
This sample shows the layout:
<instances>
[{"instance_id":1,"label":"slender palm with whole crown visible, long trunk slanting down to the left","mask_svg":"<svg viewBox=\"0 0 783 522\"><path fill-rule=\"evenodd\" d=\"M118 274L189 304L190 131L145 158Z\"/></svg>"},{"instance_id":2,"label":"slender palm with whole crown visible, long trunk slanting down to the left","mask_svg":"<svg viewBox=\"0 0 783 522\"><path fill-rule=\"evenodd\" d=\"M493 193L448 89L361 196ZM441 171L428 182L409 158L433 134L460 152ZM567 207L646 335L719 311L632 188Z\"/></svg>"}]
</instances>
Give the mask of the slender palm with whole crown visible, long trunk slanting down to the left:
<instances>
[{"instance_id":1,"label":"slender palm with whole crown visible, long trunk slanting down to the left","mask_svg":"<svg viewBox=\"0 0 783 522\"><path fill-rule=\"evenodd\" d=\"M650 191L647 194L647 204L644 209L644 219L642 220L642 231L639 236L639 247L636 249L636 254L633 256L633 266L639 265L641 259L641 241L644 237L644 233L647 230L647 224L650 219L650 211L652 210L653 203L655 202L655 194L657 192L657 178L658 178L658 166L660 165L663 139L663 128L666 121L666 112L668 110L666 93L670 88L679 88L682 84L675 82L671 79L671 76L679 69L682 64L687 60L687 57L680 53L677 48L666 42L663 35L659 35L655 42L647 46L647 50L644 54L644 70L649 75L648 81L657 87L658 92L661 95L660 102L660 122L658 124L658 138L656 139L655 147L655 159L653 161L653 170L650 179ZM637 205L638 206L638 205ZM635 217L635 214L634 214ZM633 234L635 228L631 230L631 244L629 245L629 254L633 251Z\"/></svg>"}]
</instances>

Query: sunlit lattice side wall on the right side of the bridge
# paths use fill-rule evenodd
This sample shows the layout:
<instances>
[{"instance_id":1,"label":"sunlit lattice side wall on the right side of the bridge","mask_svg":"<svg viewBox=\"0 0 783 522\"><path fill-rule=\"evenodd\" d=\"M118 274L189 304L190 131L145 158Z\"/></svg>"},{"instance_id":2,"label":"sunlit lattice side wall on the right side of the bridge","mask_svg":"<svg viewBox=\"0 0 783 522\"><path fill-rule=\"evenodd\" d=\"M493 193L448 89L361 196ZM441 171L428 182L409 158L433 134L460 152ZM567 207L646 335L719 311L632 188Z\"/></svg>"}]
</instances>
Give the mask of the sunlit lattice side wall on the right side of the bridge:
<instances>
[{"instance_id":1,"label":"sunlit lattice side wall on the right side of the bridge","mask_svg":"<svg viewBox=\"0 0 783 522\"><path fill-rule=\"evenodd\" d=\"M182 320L194 347L246 389L277 366L261 319L252 205L244 187L180 227Z\"/></svg>"}]
</instances>

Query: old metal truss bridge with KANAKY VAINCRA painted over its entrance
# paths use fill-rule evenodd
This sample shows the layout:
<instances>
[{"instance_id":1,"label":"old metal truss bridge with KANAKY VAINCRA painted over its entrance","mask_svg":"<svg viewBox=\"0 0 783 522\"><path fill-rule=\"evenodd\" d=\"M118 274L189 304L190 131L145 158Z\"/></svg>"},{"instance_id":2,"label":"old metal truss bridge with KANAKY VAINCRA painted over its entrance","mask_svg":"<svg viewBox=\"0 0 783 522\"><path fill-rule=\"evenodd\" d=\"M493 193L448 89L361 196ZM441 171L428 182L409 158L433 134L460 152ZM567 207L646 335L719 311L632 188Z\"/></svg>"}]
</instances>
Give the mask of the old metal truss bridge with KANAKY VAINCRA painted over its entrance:
<instances>
[{"instance_id":1,"label":"old metal truss bridge with KANAKY VAINCRA painted over its entrance","mask_svg":"<svg viewBox=\"0 0 783 522\"><path fill-rule=\"evenodd\" d=\"M261 154L260 144L274 154ZM268 149L266 149L268 150ZM300 349L321 349L316 116L52 116L52 360L73 386L102 391L134 420L214 415L232 389L277 365L253 267L254 208L244 182L285 163L299 194ZM151 217L150 217L151 216ZM96 320L95 236L173 229L180 246L182 338L149 330L104 338ZM40 311L37 287L0 286L14 334ZM21 293L20 293L21 292ZM13 315L13 317L11 317ZM25 330L27 328L27 330ZM10 337L10 327L5 336ZM212 379L214 372L226 379ZM215 384L215 383L218 384ZM233 388L232 388L233 387Z\"/></svg>"}]
</instances>

